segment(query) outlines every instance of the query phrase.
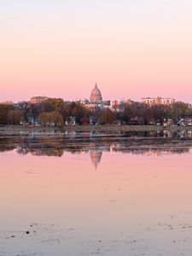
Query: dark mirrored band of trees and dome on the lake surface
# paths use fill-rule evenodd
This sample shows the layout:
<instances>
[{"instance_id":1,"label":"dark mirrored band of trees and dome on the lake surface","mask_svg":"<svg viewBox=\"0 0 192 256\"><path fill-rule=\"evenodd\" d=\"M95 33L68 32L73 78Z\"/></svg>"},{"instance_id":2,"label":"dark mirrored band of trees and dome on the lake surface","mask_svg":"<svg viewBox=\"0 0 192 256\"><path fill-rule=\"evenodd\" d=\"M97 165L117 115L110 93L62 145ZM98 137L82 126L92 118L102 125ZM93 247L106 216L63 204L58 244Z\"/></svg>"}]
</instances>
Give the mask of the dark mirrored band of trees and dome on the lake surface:
<instances>
[{"instance_id":1,"label":"dark mirrored band of trees and dome on the lake surface","mask_svg":"<svg viewBox=\"0 0 192 256\"><path fill-rule=\"evenodd\" d=\"M90 154L95 167L102 160L103 152L125 154L188 153L192 148L191 132L130 132L119 134L67 133L28 135L6 135L0 137L0 151L16 150L18 154L61 157L65 152Z\"/></svg>"}]
</instances>

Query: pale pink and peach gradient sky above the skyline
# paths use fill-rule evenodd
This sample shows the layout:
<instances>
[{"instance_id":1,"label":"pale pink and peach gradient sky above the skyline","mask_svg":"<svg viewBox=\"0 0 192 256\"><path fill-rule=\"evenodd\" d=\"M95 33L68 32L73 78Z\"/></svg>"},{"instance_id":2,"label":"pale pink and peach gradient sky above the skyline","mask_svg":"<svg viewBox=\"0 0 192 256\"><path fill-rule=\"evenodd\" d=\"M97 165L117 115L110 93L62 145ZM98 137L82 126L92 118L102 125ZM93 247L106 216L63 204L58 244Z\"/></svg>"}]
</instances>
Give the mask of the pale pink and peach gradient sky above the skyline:
<instances>
[{"instance_id":1,"label":"pale pink and peach gradient sky above the skyline","mask_svg":"<svg viewBox=\"0 0 192 256\"><path fill-rule=\"evenodd\" d=\"M191 0L0 0L0 101L192 103Z\"/></svg>"}]
</instances>

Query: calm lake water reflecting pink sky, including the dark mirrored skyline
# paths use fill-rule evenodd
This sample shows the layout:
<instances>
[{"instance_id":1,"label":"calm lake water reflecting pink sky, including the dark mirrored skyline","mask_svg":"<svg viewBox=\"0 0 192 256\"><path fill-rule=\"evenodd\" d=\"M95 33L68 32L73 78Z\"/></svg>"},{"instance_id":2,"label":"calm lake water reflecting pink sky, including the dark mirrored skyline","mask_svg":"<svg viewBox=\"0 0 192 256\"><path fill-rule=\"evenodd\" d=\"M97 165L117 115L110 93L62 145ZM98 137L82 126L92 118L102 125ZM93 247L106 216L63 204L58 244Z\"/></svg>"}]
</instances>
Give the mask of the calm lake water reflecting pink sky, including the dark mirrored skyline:
<instances>
[{"instance_id":1,"label":"calm lake water reflecting pink sky, including the dark mirrored skyline","mask_svg":"<svg viewBox=\"0 0 192 256\"><path fill-rule=\"evenodd\" d=\"M0 135L0 255L192 255L191 134Z\"/></svg>"}]
</instances>

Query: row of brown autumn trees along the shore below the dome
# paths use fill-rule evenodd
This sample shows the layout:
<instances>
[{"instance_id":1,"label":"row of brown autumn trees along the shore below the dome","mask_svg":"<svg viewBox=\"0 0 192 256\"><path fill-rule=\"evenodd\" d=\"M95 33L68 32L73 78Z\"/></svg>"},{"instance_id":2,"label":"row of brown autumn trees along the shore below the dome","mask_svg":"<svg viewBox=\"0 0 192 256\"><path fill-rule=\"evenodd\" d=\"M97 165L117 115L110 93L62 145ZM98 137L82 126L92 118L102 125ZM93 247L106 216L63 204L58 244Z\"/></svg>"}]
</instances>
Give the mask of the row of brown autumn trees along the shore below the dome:
<instances>
[{"instance_id":1,"label":"row of brown autumn trees along the shore below the dome","mask_svg":"<svg viewBox=\"0 0 192 256\"><path fill-rule=\"evenodd\" d=\"M148 106L140 102L120 104L117 108L87 109L79 102L63 102L62 99L48 99L39 104L19 102L16 105L0 104L0 125L17 125L20 123L41 123L64 125L67 117L76 118L77 124L93 123L114 124L144 124L153 121L192 117L192 108L184 102L176 102L172 106Z\"/></svg>"}]
</instances>

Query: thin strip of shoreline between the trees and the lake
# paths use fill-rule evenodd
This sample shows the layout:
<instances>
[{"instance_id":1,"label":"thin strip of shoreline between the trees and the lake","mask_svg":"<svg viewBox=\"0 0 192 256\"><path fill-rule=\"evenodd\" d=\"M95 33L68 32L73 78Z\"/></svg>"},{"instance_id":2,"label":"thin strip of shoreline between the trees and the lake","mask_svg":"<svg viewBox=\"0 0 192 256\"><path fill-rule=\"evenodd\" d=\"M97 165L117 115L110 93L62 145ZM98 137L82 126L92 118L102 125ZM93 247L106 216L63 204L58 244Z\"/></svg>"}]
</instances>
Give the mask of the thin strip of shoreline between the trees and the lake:
<instances>
[{"instance_id":1,"label":"thin strip of shoreline between the trees and the lake","mask_svg":"<svg viewBox=\"0 0 192 256\"><path fill-rule=\"evenodd\" d=\"M24 126L24 125L2 125L0 126L0 133L30 133L30 132L145 132L145 131L192 131L192 126L168 126L162 125L74 125L63 127L52 126Z\"/></svg>"}]
</instances>

